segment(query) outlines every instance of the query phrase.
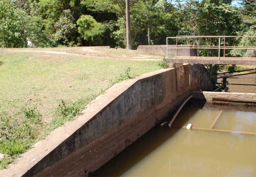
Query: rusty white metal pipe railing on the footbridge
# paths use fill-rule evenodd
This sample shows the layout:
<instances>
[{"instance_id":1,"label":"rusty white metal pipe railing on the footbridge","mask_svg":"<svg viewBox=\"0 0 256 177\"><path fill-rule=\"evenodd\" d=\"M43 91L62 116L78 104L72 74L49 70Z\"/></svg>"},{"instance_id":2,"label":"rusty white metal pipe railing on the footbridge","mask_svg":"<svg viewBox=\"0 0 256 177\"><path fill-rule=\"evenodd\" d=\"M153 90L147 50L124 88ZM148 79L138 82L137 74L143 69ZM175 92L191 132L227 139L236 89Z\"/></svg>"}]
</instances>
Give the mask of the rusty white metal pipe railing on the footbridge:
<instances>
[{"instance_id":1,"label":"rusty white metal pipe railing on the footbridge","mask_svg":"<svg viewBox=\"0 0 256 177\"><path fill-rule=\"evenodd\" d=\"M178 49L218 49L218 59L220 59L221 50L223 50L223 57L225 57L226 49L256 49L256 46L227 46L226 38L256 38L256 36L176 36L166 37L166 58L168 58L168 49L176 49L176 56L178 56ZM178 45L178 39L198 39L198 45ZM218 45L199 45L201 38L218 38ZM176 45L168 47L168 40L175 39ZM223 39L223 45L221 40Z\"/></svg>"}]
</instances>

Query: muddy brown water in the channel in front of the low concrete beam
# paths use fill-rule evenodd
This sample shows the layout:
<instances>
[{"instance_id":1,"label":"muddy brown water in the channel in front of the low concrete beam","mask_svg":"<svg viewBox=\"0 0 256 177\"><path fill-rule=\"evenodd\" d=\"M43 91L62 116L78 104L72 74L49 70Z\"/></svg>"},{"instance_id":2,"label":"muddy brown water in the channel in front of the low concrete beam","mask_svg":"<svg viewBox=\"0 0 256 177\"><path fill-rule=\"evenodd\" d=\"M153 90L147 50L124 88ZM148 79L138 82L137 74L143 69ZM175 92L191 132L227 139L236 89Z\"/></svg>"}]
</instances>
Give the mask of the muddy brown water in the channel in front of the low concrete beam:
<instances>
[{"instance_id":1,"label":"muddy brown water in the channel in front of the low concrete beam","mask_svg":"<svg viewBox=\"0 0 256 177\"><path fill-rule=\"evenodd\" d=\"M219 114L220 110L188 103L175 128L167 124L153 128L92 176L256 176L256 135L193 129L209 129ZM181 128L188 123L191 130ZM213 129L255 134L256 107L254 112L224 110Z\"/></svg>"}]
</instances>

